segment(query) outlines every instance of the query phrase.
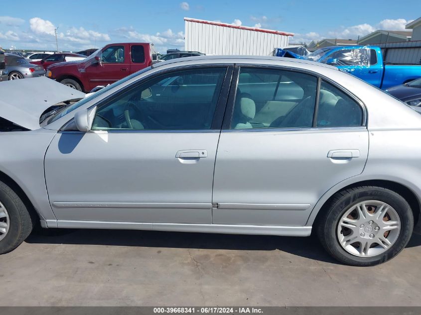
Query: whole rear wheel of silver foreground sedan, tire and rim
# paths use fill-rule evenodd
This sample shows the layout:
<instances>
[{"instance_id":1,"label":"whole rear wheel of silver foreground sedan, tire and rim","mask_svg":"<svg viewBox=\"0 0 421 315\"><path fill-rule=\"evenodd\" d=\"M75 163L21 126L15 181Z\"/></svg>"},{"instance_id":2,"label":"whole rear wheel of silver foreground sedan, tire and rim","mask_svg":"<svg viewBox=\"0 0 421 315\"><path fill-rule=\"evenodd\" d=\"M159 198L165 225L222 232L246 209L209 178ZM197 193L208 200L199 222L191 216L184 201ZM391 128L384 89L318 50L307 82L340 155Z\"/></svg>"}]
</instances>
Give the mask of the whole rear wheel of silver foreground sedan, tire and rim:
<instances>
[{"instance_id":1,"label":"whole rear wheel of silver foreground sedan, tire and rim","mask_svg":"<svg viewBox=\"0 0 421 315\"><path fill-rule=\"evenodd\" d=\"M408 202L382 187L343 190L322 211L315 223L321 244L333 258L352 266L392 259L408 244L414 228Z\"/></svg>"}]
</instances>

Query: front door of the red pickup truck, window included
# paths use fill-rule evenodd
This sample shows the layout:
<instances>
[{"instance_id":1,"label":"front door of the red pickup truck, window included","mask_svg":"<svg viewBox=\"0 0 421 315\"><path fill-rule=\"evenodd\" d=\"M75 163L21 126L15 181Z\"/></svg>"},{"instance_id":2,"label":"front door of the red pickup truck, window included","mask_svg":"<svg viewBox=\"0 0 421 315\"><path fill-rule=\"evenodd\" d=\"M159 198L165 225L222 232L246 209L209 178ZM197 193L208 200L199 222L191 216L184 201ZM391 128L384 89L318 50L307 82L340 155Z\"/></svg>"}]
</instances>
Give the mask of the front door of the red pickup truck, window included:
<instances>
[{"instance_id":1,"label":"front door of the red pickup truck, window included","mask_svg":"<svg viewBox=\"0 0 421 315\"><path fill-rule=\"evenodd\" d=\"M85 72L89 78L89 91L93 88L114 83L130 73L129 51L125 45L106 47L101 54L100 63L91 64Z\"/></svg>"}]
</instances>

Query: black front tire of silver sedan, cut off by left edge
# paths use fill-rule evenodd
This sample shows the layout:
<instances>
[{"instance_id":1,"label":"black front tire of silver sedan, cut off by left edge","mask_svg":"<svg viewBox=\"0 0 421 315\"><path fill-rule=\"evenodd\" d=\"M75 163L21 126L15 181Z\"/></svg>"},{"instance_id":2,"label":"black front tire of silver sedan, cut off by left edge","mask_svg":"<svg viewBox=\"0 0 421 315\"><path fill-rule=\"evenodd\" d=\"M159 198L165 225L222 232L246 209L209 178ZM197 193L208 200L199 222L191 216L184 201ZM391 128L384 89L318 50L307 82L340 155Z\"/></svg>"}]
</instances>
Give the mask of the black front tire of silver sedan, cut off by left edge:
<instances>
[{"instance_id":1,"label":"black front tire of silver sedan, cut off by left edge","mask_svg":"<svg viewBox=\"0 0 421 315\"><path fill-rule=\"evenodd\" d=\"M2 214L1 214L2 213ZM32 231L33 218L22 199L6 184L0 182L0 254L19 246ZM4 232L4 223L8 225Z\"/></svg>"}]
</instances>

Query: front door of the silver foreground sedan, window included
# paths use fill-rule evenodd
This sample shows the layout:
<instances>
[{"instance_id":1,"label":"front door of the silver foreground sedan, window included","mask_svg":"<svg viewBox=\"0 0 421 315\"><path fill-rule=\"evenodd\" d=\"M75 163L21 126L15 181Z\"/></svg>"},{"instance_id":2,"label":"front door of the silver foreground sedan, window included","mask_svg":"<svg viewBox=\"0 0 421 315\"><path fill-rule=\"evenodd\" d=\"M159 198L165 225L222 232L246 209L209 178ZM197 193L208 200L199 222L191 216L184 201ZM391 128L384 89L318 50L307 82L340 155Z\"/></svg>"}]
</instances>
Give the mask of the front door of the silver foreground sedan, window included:
<instances>
[{"instance_id":1,"label":"front door of the silver foreground sedan, window included","mask_svg":"<svg viewBox=\"0 0 421 315\"><path fill-rule=\"evenodd\" d=\"M91 131L59 132L45 156L59 222L212 223L231 75L226 66L155 75L98 104Z\"/></svg>"}]
</instances>

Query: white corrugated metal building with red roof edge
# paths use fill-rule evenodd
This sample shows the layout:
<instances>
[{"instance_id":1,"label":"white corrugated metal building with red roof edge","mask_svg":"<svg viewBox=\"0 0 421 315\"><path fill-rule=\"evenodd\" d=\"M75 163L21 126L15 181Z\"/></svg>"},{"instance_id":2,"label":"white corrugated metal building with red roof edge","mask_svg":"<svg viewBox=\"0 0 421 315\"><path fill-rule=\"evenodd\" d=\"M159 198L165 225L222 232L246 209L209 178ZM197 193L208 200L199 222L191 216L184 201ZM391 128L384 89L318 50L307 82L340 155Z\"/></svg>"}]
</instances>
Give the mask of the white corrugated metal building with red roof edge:
<instances>
[{"instance_id":1,"label":"white corrugated metal building with red roof edge","mask_svg":"<svg viewBox=\"0 0 421 315\"><path fill-rule=\"evenodd\" d=\"M184 18L185 50L207 55L272 56L293 33Z\"/></svg>"}]
</instances>

